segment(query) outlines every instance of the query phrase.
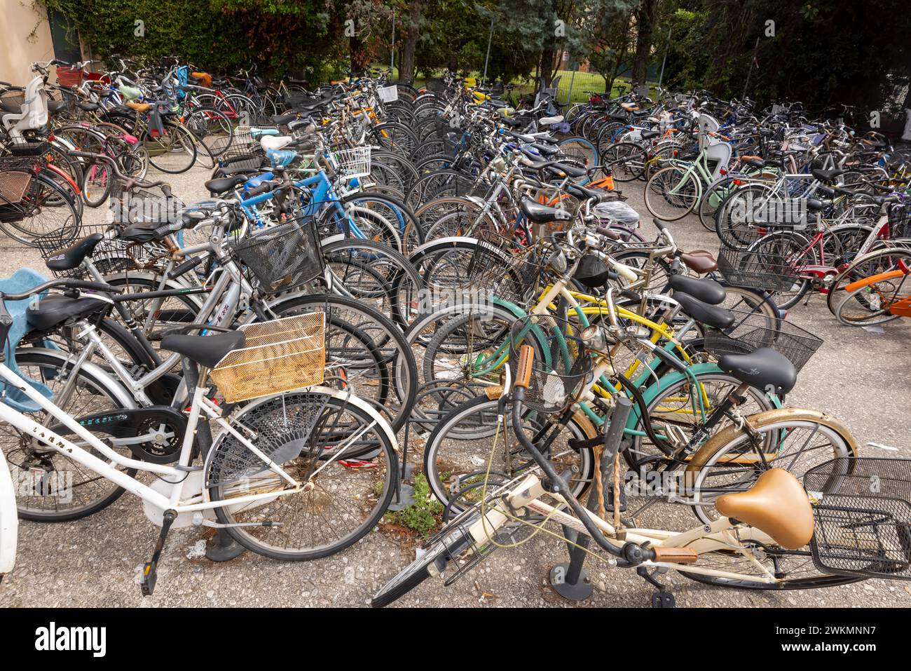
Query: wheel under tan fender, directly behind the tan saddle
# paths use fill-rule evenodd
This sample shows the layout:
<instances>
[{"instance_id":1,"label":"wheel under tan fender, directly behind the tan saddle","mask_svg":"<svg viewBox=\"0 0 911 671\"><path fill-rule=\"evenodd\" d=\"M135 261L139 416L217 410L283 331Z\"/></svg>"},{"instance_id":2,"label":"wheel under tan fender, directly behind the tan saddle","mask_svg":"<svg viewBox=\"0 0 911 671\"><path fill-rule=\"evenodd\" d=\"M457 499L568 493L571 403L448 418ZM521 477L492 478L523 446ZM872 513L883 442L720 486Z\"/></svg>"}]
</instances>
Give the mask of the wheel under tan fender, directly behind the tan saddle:
<instances>
[{"instance_id":1,"label":"wheel under tan fender, directly behind the tan saddle","mask_svg":"<svg viewBox=\"0 0 911 671\"><path fill-rule=\"evenodd\" d=\"M781 408L750 415L750 430L729 424L693 455L686 468L692 511L705 524L718 518L711 505L725 492L748 490L765 470L798 479L824 461L854 457L857 444L844 424L817 410Z\"/></svg>"}]
</instances>

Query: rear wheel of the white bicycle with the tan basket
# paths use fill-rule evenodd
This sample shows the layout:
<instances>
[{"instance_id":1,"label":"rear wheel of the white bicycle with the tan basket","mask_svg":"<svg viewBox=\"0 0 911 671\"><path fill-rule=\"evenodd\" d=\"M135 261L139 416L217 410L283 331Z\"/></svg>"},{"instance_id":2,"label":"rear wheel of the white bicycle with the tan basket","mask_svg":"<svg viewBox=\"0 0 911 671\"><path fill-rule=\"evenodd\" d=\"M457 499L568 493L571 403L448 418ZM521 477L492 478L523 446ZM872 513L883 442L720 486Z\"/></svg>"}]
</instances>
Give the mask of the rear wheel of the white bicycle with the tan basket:
<instances>
[{"instance_id":1,"label":"rear wheel of the white bicycle with the tan basket","mask_svg":"<svg viewBox=\"0 0 911 671\"><path fill-rule=\"evenodd\" d=\"M394 438L382 421L348 398L319 387L267 397L232 418L257 449L306 485L282 495L289 483L227 431L212 446L205 466L215 514L235 541L272 559L328 557L374 528L398 480ZM275 497L231 504L251 494Z\"/></svg>"}]
</instances>

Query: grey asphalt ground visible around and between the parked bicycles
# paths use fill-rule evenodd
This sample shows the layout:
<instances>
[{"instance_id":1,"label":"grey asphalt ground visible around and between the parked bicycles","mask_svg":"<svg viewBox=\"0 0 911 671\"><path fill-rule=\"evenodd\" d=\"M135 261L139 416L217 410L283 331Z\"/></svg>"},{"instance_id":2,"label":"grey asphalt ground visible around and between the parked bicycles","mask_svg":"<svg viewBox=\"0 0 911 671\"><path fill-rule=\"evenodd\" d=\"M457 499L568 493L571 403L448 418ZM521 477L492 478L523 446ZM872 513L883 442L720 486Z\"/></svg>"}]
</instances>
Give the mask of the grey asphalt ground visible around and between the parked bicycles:
<instances>
[{"instance_id":1,"label":"grey asphalt ground visible around and between the parked bicycles","mask_svg":"<svg viewBox=\"0 0 911 671\"><path fill-rule=\"evenodd\" d=\"M169 176L186 201L206 196L207 170ZM653 234L640 185L625 185L630 204ZM87 217L100 216L88 211ZM90 221L90 220L87 220ZM683 249L717 249L717 239L693 217L671 225ZM5 273L40 257L18 243L0 240ZM842 418L866 455L911 457L911 323L885 325L884 333L839 325L814 294L789 319L824 337L824 346L802 371L789 396L794 406L821 408ZM881 446L865 446L875 442ZM659 503L652 523L684 530L696 525L681 506ZM648 522L649 519L640 521ZM382 525L381 525L382 526ZM141 502L125 494L87 519L41 524L23 521L13 573L0 584L0 606L363 606L370 596L414 558L411 543L376 529L333 557L309 563L281 563L246 552L228 563L201 559L207 533L177 530L169 536L159 563L154 596L142 598L138 570L148 560L158 529ZM545 584L548 570L566 560L558 540L538 536L513 550L494 552L450 587L430 580L398 602L402 606L554 606L569 607ZM594 594L584 605L644 607L653 589L628 570L589 562ZM677 575L665 577L680 606L909 606L911 587L895 581L865 581L826 590L759 593L703 586Z\"/></svg>"}]
</instances>

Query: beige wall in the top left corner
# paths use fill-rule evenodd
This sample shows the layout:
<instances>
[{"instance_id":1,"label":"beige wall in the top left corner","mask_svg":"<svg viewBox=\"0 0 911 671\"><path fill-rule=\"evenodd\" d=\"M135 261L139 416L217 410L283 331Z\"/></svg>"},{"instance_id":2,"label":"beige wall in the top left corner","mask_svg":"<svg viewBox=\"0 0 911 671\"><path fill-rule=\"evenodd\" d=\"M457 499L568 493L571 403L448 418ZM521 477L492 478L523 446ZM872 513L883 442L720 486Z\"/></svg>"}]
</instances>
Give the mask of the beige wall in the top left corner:
<instances>
[{"instance_id":1,"label":"beige wall in the top left corner","mask_svg":"<svg viewBox=\"0 0 911 671\"><path fill-rule=\"evenodd\" d=\"M31 5L32 0L0 0L0 81L24 86L34 76L29 70L32 63L54 57L47 16Z\"/></svg>"}]
</instances>

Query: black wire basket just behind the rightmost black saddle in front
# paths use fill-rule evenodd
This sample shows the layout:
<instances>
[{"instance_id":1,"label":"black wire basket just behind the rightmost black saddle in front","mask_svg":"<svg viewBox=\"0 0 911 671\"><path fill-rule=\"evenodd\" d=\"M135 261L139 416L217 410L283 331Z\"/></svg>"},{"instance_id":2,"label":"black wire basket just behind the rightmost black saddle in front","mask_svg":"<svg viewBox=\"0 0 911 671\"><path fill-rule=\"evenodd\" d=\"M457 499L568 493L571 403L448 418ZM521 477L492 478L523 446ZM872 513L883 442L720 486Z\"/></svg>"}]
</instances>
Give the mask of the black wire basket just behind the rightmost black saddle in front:
<instances>
[{"instance_id":1,"label":"black wire basket just behind the rightmost black saddle in front","mask_svg":"<svg viewBox=\"0 0 911 671\"><path fill-rule=\"evenodd\" d=\"M769 347L785 356L798 371L823 344L823 339L800 326L760 312L732 310L734 324L723 331L706 329L705 351L714 356L750 354Z\"/></svg>"}]
</instances>

